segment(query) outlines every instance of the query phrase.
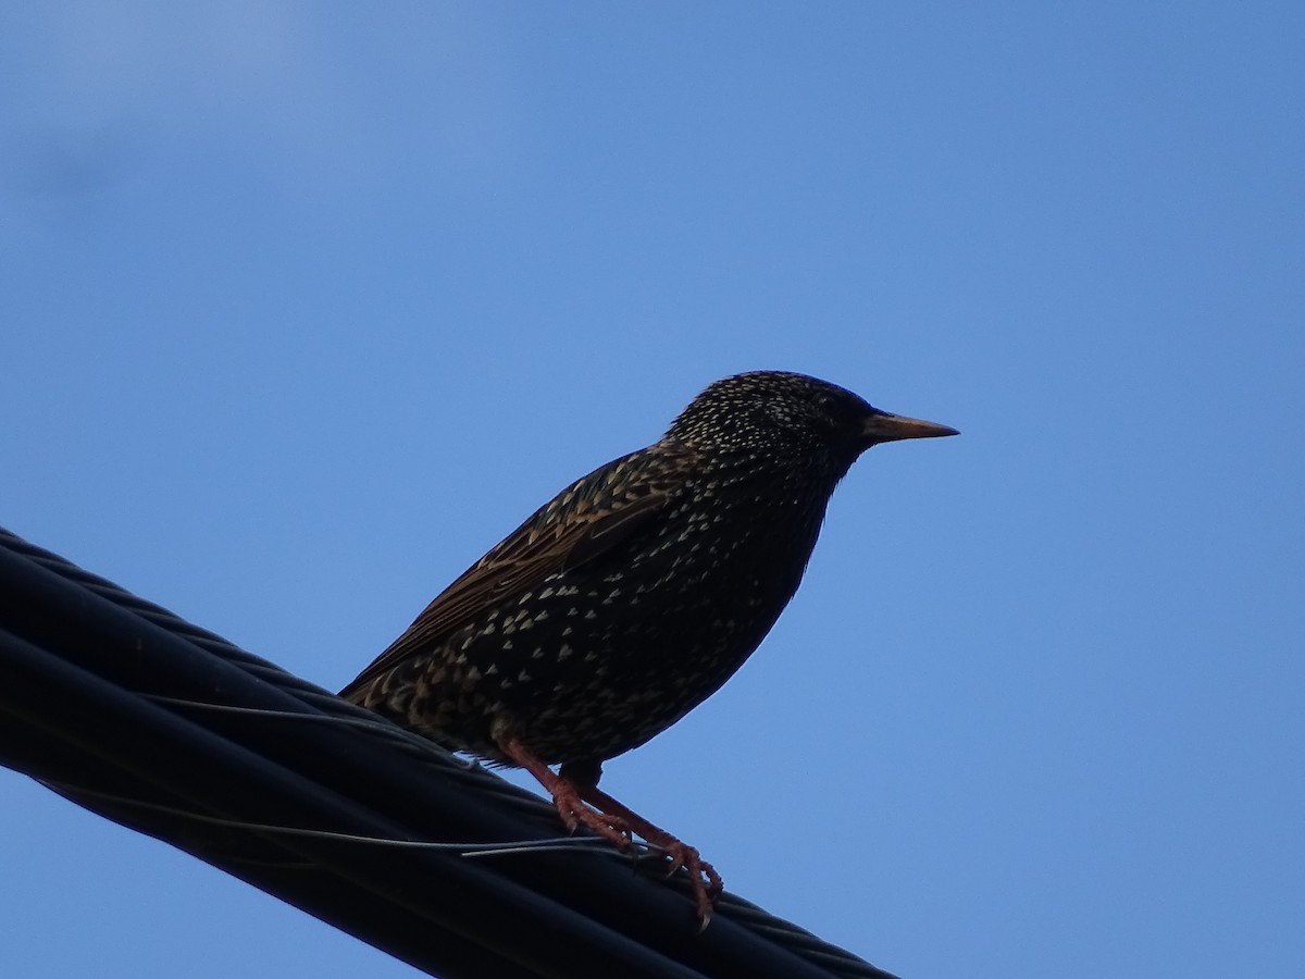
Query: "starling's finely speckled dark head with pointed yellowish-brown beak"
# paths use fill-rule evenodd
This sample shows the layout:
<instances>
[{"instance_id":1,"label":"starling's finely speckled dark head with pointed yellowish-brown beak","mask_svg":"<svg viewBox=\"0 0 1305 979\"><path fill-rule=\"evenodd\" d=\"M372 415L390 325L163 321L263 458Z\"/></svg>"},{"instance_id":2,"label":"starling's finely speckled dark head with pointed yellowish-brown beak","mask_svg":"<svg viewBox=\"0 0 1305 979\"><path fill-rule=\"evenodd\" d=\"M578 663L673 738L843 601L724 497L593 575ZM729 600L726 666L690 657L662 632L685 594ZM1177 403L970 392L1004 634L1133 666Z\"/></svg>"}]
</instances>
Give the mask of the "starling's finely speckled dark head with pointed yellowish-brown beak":
<instances>
[{"instance_id":1,"label":"starling's finely speckled dark head with pointed yellowish-brown beak","mask_svg":"<svg viewBox=\"0 0 1305 979\"><path fill-rule=\"evenodd\" d=\"M707 453L847 471L872 445L957 435L955 428L891 415L852 392L786 371L753 371L709 385L680 412L667 437Z\"/></svg>"}]
</instances>

